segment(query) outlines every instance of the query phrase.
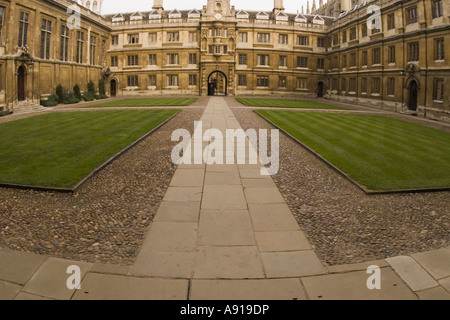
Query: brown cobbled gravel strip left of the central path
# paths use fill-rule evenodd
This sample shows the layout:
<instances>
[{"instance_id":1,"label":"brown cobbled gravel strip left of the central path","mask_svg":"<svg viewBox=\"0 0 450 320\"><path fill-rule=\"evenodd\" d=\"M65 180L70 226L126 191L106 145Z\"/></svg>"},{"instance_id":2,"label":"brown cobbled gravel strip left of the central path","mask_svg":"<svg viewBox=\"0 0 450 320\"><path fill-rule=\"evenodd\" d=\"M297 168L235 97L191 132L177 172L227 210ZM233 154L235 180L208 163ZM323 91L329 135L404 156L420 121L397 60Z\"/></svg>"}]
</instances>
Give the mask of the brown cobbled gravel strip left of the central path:
<instances>
[{"instance_id":1,"label":"brown cobbled gravel strip left of the central path","mask_svg":"<svg viewBox=\"0 0 450 320\"><path fill-rule=\"evenodd\" d=\"M203 112L183 109L75 194L0 188L0 247L132 264L176 169L171 134Z\"/></svg>"}]
</instances>

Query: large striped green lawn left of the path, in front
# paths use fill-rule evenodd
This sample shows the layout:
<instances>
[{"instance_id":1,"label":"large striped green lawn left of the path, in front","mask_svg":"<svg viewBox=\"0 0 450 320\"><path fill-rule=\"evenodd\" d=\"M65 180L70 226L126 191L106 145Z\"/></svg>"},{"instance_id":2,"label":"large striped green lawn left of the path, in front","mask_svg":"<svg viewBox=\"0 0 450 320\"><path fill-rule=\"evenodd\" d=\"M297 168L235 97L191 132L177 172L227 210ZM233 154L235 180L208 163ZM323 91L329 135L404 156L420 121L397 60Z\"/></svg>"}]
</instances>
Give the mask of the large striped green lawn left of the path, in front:
<instances>
[{"instance_id":1,"label":"large striped green lawn left of the path, in front","mask_svg":"<svg viewBox=\"0 0 450 320\"><path fill-rule=\"evenodd\" d=\"M0 125L0 182L73 187L178 110L51 113Z\"/></svg>"}]
</instances>

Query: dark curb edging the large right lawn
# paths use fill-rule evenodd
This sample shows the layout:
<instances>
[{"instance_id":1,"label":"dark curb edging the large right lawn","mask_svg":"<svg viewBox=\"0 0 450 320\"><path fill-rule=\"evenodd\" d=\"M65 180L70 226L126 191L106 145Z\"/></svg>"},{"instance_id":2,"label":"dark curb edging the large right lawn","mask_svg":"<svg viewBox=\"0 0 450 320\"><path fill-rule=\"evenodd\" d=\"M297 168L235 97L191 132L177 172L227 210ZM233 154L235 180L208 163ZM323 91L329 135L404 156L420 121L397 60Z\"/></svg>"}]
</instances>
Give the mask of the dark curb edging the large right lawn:
<instances>
[{"instance_id":1,"label":"dark curb edging the large right lawn","mask_svg":"<svg viewBox=\"0 0 450 320\"><path fill-rule=\"evenodd\" d=\"M344 171L342 171L341 169L339 169L338 167L336 167L334 164L332 164L331 162L329 162L327 159L325 159L324 157L322 157L319 153L317 153L316 151L314 151L312 148L308 147L306 144L304 144L303 142L301 142L300 140L298 140L297 138L295 138L293 135L291 135L290 133L288 133L286 130L282 129L281 127L279 127L278 125L276 125L275 123L273 123L272 121L270 121L269 119L267 119L266 117L264 117L263 115L259 114L257 112L257 110L253 110L254 113L256 113L258 116L260 116L261 118L263 118L264 120L266 120L268 123L270 123L271 125L273 125L275 128L277 128L278 130L280 130L281 132L283 132L285 135L287 135L289 138L291 138L292 140L294 140L296 143L298 143L299 145L301 145L303 148L305 148L306 150L308 150L311 154L313 154L315 157L319 158L320 160L322 160L326 165L328 165L330 168L332 168L334 171L336 171L337 173L339 173L341 176L343 176L344 178L346 178L348 181L350 181L351 183L353 183L354 185L356 185L359 189L361 189L366 195L383 195L383 194L398 194L398 193L425 193L425 192L444 192L444 191L450 191L450 187L441 187L441 188L418 188L418 189L400 189L400 190L371 190L368 189L366 186L360 184L358 181L356 181L355 179L353 179L352 177L350 177L347 173L345 173Z\"/></svg>"}]
</instances>

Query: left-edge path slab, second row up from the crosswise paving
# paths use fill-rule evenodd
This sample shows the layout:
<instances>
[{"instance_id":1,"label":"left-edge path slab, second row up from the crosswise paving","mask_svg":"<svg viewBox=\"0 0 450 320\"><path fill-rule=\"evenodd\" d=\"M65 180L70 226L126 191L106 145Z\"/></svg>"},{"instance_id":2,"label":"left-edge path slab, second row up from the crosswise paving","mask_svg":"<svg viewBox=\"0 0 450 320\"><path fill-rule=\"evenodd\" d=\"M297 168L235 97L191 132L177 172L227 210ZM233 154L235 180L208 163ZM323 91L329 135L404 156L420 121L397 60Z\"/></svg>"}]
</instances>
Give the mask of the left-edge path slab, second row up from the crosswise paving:
<instances>
[{"instance_id":1,"label":"left-edge path slab, second row up from the crosswise paving","mask_svg":"<svg viewBox=\"0 0 450 320\"><path fill-rule=\"evenodd\" d=\"M197 227L197 223L154 222L141 251L193 252Z\"/></svg>"}]
</instances>

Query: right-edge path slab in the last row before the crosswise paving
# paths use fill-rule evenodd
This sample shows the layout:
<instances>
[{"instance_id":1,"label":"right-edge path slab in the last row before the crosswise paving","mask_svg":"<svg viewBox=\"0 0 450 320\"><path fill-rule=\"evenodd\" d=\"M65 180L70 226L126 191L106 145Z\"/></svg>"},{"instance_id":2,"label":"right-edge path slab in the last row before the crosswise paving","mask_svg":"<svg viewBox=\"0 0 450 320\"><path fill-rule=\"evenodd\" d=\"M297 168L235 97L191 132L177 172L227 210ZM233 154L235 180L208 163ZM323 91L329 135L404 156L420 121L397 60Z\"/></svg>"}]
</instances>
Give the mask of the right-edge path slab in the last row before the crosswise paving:
<instances>
[{"instance_id":1,"label":"right-edge path slab in the last row before the crosswise paving","mask_svg":"<svg viewBox=\"0 0 450 320\"><path fill-rule=\"evenodd\" d=\"M268 278L292 278L326 273L313 250L261 253Z\"/></svg>"}]
</instances>

